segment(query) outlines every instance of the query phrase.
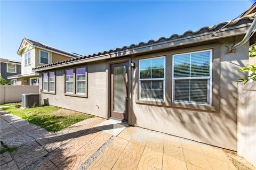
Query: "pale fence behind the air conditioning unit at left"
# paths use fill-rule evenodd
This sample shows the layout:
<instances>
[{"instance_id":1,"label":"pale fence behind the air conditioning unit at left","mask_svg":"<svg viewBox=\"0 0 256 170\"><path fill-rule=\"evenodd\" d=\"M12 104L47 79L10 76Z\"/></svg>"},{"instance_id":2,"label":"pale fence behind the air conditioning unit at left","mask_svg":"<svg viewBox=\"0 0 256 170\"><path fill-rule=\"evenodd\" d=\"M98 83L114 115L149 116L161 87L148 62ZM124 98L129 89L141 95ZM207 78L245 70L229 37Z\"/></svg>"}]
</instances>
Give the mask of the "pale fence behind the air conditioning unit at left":
<instances>
[{"instance_id":1,"label":"pale fence behind the air conditioning unit at left","mask_svg":"<svg viewBox=\"0 0 256 170\"><path fill-rule=\"evenodd\" d=\"M39 86L0 85L0 104L21 101L21 95L27 93L39 93Z\"/></svg>"}]
</instances>

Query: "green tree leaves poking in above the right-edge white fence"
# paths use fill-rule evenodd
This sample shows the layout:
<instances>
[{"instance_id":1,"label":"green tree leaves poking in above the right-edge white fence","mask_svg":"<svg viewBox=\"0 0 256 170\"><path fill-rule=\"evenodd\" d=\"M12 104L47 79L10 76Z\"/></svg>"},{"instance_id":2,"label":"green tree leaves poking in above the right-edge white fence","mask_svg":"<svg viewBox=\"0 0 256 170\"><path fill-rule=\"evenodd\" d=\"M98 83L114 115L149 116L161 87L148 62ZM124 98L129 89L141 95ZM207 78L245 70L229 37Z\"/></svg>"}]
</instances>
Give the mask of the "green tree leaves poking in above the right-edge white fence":
<instances>
[{"instance_id":1,"label":"green tree leaves poking in above the right-edge white fence","mask_svg":"<svg viewBox=\"0 0 256 170\"><path fill-rule=\"evenodd\" d=\"M256 48L255 46L252 46L249 49L249 57L255 57L256 56ZM238 69L239 72L250 72L249 75L238 79L237 82L243 82L243 84L246 84L249 80L256 81L256 64L248 64L245 67L242 67L241 69Z\"/></svg>"}]
</instances>

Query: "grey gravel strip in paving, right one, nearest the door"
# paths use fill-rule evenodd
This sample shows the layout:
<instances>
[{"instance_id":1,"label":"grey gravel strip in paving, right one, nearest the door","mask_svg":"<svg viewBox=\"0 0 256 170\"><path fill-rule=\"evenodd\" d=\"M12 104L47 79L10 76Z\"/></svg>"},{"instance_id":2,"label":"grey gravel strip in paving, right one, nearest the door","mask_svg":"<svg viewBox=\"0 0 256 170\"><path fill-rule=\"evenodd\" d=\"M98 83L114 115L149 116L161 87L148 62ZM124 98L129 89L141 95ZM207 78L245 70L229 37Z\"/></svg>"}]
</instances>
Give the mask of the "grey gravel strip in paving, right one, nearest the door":
<instances>
[{"instance_id":1,"label":"grey gravel strip in paving, right one, nearest the door","mask_svg":"<svg viewBox=\"0 0 256 170\"><path fill-rule=\"evenodd\" d=\"M100 149L98 149L97 151L94 152L94 154L88 159L86 160L85 163L83 163L81 165L81 167L79 167L77 170L84 170L87 169L92 162L98 158L98 156L100 156L100 154L110 145L110 143L113 141L112 138L110 138L106 143L104 143L104 145L102 145L102 147Z\"/></svg>"}]
</instances>

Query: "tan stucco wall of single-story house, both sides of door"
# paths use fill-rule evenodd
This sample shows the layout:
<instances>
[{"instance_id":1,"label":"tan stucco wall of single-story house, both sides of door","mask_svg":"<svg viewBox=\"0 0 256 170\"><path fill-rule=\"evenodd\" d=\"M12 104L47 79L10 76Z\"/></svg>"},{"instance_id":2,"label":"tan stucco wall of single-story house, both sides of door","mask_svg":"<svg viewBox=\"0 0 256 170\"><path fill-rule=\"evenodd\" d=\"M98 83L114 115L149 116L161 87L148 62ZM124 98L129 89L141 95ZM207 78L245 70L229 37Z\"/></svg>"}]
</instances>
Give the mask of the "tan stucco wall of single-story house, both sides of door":
<instances>
[{"instance_id":1,"label":"tan stucco wall of single-story house, both sides of door","mask_svg":"<svg viewBox=\"0 0 256 170\"><path fill-rule=\"evenodd\" d=\"M129 124L141 126L182 138L210 145L237 150L237 84L236 80L244 73L237 69L248 62L249 43L239 47L235 53L227 54L228 48L239 38L229 38L204 46L169 50L159 54L125 57L134 62L135 69L129 68ZM209 44L209 43L205 43ZM213 48L213 106L182 106L171 104L171 58L174 53ZM138 58L166 56L166 102L138 102ZM109 116L109 61L88 63L88 98L64 95L64 69L57 71L57 94L42 94L42 99L50 105L108 118ZM40 83L42 79L40 80ZM42 83L40 85L42 89ZM97 107L99 106L99 108Z\"/></svg>"}]
</instances>

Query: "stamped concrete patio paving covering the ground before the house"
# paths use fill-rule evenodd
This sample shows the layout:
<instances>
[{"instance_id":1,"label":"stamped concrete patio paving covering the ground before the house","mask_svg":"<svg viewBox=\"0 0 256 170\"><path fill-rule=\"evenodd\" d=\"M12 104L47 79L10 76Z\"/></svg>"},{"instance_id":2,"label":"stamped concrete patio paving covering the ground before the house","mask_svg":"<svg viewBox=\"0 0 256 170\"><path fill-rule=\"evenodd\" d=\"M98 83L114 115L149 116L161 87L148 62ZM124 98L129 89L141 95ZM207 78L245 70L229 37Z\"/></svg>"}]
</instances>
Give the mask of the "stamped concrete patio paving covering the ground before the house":
<instances>
[{"instance_id":1,"label":"stamped concrete patio paving covering the ground before the house","mask_svg":"<svg viewBox=\"0 0 256 170\"><path fill-rule=\"evenodd\" d=\"M3 115L2 115L3 114ZM50 133L1 113L1 140L16 151L1 155L1 169L237 169L222 149L127 127L117 137L93 129L90 118Z\"/></svg>"}]
</instances>

